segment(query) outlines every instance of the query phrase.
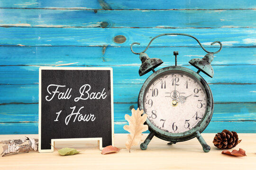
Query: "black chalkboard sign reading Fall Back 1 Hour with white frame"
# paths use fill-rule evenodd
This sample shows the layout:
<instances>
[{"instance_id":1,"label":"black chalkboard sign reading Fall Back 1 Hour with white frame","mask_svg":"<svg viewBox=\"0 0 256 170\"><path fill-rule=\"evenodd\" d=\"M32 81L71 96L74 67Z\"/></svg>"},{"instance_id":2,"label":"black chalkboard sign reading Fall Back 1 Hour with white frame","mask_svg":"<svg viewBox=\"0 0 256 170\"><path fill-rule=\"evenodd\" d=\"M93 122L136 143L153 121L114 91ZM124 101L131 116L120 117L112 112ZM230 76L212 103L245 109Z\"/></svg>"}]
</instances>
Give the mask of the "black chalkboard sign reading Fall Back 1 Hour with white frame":
<instances>
[{"instance_id":1,"label":"black chalkboard sign reading Fall Back 1 Hour with white frame","mask_svg":"<svg viewBox=\"0 0 256 170\"><path fill-rule=\"evenodd\" d=\"M113 145L112 68L39 68L39 152L54 141Z\"/></svg>"}]
</instances>

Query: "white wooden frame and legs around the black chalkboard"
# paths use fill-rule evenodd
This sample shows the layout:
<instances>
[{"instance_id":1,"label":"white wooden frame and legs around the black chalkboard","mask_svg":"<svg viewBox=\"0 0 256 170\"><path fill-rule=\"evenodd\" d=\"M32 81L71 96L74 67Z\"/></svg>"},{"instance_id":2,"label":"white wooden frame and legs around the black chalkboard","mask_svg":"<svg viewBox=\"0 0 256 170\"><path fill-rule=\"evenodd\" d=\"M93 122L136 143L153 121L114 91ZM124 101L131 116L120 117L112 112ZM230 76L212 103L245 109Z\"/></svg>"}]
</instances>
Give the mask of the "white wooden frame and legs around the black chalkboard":
<instances>
[{"instance_id":1,"label":"white wooden frame and legs around the black chalkboard","mask_svg":"<svg viewBox=\"0 0 256 170\"><path fill-rule=\"evenodd\" d=\"M113 99L113 69L112 68L98 68L98 67L40 67L39 68L39 104L38 104L38 151L39 153L53 152L54 147L51 146L51 149L41 149L41 71L42 70L110 70L110 86L111 86L111 136L112 136L112 145L114 146L114 99ZM102 137L94 138L68 138L68 139L51 139L51 143L55 144L57 141L88 141L88 140L97 140L102 150Z\"/></svg>"}]
</instances>

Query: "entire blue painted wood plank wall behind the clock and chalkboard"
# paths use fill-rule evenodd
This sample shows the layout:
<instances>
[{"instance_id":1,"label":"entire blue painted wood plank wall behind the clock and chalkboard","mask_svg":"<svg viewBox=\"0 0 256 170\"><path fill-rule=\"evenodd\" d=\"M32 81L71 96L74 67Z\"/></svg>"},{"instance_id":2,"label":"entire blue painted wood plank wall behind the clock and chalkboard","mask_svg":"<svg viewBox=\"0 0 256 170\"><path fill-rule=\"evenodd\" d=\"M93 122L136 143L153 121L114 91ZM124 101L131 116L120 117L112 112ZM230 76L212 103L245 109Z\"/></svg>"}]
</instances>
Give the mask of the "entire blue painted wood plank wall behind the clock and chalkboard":
<instances>
[{"instance_id":1,"label":"entire blue painted wood plank wall behind the clock and chalkboard","mask_svg":"<svg viewBox=\"0 0 256 170\"><path fill-rule=\"evenodd\" d=\"M204 132L223 129L256 133L255 0L1 0L0 1L0 134L38 133L40 66L112 67L115 133L125 133L125 114L137 108L137 95L149 75L131 53L143 51L152 37L185 33L215 54L209 78L214 114ZM123 35L126 41L115 42ZM189 37L155 40L147 54L174 64L188 64L205 52Z\"/></svg>"}]
</instances>

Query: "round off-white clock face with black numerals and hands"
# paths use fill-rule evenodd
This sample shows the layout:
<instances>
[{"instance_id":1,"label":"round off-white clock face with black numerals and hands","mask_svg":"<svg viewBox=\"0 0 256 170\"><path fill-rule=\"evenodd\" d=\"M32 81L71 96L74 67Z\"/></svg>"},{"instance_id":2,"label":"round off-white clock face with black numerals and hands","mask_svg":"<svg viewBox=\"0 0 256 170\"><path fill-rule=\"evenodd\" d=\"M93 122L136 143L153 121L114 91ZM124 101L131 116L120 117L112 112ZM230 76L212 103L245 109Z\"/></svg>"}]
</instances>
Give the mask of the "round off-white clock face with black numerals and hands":
<instances>
[{"instance_id":1,"label":"round off-white clock face with black numerals and hands","mask_svg":"<svg viewBox=\"0 0 256 170\"><path fill-rule=\"evenodd\" d=\"M182 70L169 70L148 83L143 109L154 127L168 133L183 133L204 118L207 96L198 78Z\"/></svg>"}]
</instances>

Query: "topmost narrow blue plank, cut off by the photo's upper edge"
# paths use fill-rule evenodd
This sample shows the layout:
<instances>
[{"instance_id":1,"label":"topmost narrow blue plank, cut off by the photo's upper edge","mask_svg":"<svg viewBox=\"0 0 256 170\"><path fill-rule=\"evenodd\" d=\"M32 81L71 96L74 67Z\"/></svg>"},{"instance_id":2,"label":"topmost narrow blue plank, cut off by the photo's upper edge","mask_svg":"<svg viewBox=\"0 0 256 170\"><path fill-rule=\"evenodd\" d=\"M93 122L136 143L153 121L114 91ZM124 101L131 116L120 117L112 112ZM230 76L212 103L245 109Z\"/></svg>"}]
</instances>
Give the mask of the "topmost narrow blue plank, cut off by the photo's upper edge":
<instances>
[{"instance_id":1,"label":"topmost narrow blue plank, cut off by the photo's upper edge","mask_svg":"<svg viewBox=\"0 0 256 170\"><path fill-rule=\"evenodd\" d=\"M221 0L1 0L1 8L76 8L104 9L107 4L111 9L247 9L256 8L254 0L233 1ZM105 2L105 3L104 3Z\"/></svg>"}]
</instances>

